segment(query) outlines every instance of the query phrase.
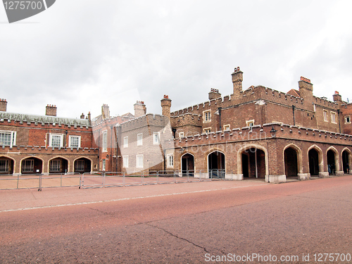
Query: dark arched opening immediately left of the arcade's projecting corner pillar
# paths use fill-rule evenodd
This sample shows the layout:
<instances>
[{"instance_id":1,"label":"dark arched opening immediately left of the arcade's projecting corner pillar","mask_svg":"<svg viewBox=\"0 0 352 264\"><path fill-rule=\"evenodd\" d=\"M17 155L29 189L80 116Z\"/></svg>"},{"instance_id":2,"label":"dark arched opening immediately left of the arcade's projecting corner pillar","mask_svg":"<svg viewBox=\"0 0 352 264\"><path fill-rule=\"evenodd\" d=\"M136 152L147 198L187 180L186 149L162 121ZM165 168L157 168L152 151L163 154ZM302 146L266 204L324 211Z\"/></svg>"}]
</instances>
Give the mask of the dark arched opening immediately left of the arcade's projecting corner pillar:
<instances>
[{"instance_id":1,"label":"dark arched opening immediately left of the arcade's projecting corner pillar","mask_svg":"<svg viewBox=\"0 0 352 264\"><path fill-rule=\"evenodd\" d=\"M241 153L244 178L265 178L265 153L261 149L249 148Z\"/></svg>"}]
</instances>

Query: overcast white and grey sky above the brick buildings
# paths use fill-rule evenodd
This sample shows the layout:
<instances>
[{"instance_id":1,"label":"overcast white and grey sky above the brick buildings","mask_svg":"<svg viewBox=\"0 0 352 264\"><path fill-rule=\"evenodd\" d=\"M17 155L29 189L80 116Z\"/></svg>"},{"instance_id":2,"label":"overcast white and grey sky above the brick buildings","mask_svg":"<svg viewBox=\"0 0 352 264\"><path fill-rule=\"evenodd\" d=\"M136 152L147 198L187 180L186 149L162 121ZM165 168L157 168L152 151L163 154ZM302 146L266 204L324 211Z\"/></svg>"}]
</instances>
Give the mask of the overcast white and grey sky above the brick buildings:
<instances>
[{"instance_id":1,"label":"overcast white and grey sky above the brick buildings","mask_svg":"<svg viewBox=\"0 0 352 264\"><path fill-rule=\"evenodd\" d=\"M161 113L244 88L282 92L309 78L316 96L352 101L352 1L56 0L9 24L0 6L0 98L8 112L78 118L133 113L137 100Z\"/></svg>"}]
</instances>

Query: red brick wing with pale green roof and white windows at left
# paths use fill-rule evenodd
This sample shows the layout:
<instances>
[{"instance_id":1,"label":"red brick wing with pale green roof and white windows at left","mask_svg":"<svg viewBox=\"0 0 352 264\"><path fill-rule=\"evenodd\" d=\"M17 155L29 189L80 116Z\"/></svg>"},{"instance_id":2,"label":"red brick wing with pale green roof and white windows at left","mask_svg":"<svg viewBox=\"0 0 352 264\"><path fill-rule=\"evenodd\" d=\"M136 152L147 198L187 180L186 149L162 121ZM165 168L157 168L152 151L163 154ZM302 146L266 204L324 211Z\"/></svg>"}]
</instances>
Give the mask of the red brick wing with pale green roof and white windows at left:
<instances>
[{"instance_id":1,"label":"red brick wing with pale green roof and white windows at left","mask_svg":"<svg viewBox=\"0 0 352 264\"><path fill-rule=\"evenodd\" d=\"M6 108L1 99L0 174L98 170L90 114L87 119L60 118L52 105L45 115L8 113Z\"/></svg>"}]
</instances>

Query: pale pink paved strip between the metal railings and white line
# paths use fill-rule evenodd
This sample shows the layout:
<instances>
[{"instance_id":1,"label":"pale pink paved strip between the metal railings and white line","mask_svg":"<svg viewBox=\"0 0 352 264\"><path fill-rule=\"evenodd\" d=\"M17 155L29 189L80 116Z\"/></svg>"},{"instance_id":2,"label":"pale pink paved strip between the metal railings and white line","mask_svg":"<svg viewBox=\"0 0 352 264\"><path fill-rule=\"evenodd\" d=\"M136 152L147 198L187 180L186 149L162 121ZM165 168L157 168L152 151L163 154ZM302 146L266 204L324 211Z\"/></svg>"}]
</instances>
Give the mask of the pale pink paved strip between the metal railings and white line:
<instances>
[{"instance_id":1,"label":"pale pink paved strip between the metal railings and white line","mask_svg":"<svg viewBox=\"0 0 352 264\"><path fill-rule=\"evenodd\" d=\"M101 203L124 199L141 199L151 196L177 195L201 191L244 188L268 184L261 181L213 181L179 184L153 184L132 187L108 187L78 189L57 187L42 189L0 190L0 212L7 210L29 210L34 208L73 206L84 203Z\"/></svg>"}]
</instances>

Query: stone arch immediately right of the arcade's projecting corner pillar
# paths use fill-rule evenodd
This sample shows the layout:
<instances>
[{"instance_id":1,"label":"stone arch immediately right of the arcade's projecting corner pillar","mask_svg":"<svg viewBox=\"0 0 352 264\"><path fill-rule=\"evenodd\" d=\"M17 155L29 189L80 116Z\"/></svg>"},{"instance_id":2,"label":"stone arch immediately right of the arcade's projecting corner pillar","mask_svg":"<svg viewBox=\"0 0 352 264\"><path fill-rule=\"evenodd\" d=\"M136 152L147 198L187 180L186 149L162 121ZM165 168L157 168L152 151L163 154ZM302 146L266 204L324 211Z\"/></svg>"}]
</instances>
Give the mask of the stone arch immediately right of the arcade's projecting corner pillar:
<instances>
[{"instance_id":1,"label":"stone arch immediately right of the arcade's projecting corner pillar","mask_svg":"<svg viewBox=\"0 0 352 264\"><path fill-rule=\"evenodd\" d=\"M286 177L298 177L303 172L302 151L296 144L288 144L283 150L284 173Z\"/></svg>"}]
</instances>

